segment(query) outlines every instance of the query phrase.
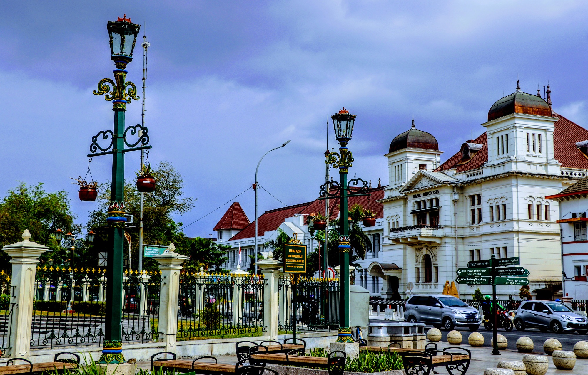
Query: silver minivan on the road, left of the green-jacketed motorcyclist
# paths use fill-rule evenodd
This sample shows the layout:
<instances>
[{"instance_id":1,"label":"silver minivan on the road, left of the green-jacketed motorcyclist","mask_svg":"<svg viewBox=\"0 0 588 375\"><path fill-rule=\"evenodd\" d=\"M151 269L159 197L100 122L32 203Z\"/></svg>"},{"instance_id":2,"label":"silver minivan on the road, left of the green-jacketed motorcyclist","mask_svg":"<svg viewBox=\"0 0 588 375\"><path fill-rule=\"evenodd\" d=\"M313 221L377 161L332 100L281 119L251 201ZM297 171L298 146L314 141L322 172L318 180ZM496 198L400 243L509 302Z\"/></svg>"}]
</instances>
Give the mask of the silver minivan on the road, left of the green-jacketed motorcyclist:
<instances>
[{"instance_id":1,"label":"silver minivan on the road, left of the green-jacketed motorcyclist","mask_svg":"<svg viewBox=\"0 0 588 375\"><path fill-rule=\"evenodd\" d=\"M482 323L478 310L459 298L447 294L419 294L406 302L406 322L433 324L433 327L452 330L455 326L467 326L477 331Z\"/></svg>"}]
</instances>

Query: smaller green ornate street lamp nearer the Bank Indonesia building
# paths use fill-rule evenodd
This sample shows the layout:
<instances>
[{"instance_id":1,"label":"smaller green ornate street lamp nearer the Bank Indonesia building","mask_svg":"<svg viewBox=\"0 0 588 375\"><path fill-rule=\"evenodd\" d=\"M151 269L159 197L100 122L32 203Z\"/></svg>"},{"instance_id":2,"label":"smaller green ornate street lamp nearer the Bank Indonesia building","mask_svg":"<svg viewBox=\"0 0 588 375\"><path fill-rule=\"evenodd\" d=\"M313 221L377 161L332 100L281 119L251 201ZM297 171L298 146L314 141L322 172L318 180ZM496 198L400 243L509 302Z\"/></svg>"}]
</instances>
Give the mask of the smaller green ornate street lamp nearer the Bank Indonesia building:
<instances>
[{"instance_id":1,"label":"smaller green ornate street lamp nearer the Bank Indonesia building","mask_svg":"<svg viewBox=\"0 0 588 375\"><path fill-rule=\"evenodd\" d=\"M360 178L347 180L349 168L353 163L353 155L347 148L351 140L355 115L351 115L343 108L339 113L332 115L333 128L335 128L335 139L339 142L339 153L330 152L325 163L332 164L339 169L339 183L328 181L320 186L319 199L340 198L340 219L339 219L339 337L335 342L352 343L351 327L349 326L349 256L351 246L349 245L349 219L348 202L350 196L366 196L369 194L368 182ZM350 189L349 185L358 186ZM334 192L333 192L334 191ZM325 233L327 234L327 233ZM328 239L327 239L328 240Z\"/></svg>"}]
</instances>

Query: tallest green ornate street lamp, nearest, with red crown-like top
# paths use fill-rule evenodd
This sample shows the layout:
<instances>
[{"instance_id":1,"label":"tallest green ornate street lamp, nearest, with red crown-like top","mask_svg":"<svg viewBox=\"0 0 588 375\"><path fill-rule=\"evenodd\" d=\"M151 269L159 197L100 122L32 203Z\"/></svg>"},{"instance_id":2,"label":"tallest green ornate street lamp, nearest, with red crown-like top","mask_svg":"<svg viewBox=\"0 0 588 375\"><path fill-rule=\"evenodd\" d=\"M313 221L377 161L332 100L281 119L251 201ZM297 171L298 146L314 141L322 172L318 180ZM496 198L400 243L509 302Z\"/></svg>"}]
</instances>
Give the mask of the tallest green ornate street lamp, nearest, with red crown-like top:
<instances>
[{"instance_id":1,"label":"tallest green ornate street lamp, nearest, with red crown-like top","mask_svg":"<svg viewBox=\"0 0 588 375\"><path fill-rule=\"evenodd\" d=\"M123 299L123 243L124 227L126 223L124 183L125 183L125 152L145 150L148 146L148 129L141 125L129 126L125 129L126 104L131 99L139 100L135 83L126 82L126 65L133 59L136 36L140 25L131 24L131 19L126 14L116 21L108 21L106 26L110 36L111 60L115 62L113 71L115 81L103 78L98 82L95 95L105 95L104 99L112 101L114 111L114 129L100 130L92 137L89 158L99 155L112 154L112 185L111 200L108 207L106 222L109 226L108 233L108 272L106 273L106 322L102 356L98 363L124 363L122 354L122 299ZM136 135L135 142L126 138L127 135ZM108 143L101 146L98 139ZM125 145L129 148L125 148ZM136 147L138 146L138 147ZM100 152L98 152L100 151Z\"/></svg>"}]
</instances>

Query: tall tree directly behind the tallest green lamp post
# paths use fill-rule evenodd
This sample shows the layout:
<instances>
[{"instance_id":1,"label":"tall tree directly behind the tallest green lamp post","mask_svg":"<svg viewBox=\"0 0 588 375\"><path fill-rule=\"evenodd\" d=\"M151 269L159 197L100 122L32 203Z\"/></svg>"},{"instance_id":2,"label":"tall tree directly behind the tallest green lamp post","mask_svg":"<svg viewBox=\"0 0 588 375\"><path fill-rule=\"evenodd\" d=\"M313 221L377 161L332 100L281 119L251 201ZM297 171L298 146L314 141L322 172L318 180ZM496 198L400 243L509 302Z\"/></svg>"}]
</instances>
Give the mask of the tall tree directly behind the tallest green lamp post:
<instances>
[{"instance_id":1,"label":"tall tree directly behind the tallest green lamp post","mask_svg":"<svg viewBox=\"0 0 588 375\"><path fill-rule=\"evenodd\" d=\"M182 223L176 223L173 217L188 212L195 201L192 197L183 196L183 179L180 173L168 162L160 162L153 170L156 179L155 190L143 194L143 243L145 245L169 245L173 242L178 252L189 249L191 242L180 230ZM108 236L105 230L106 215L110 201L109 184L101 185L102 193L98 197L99 209L90 213L88 229L96 232L96 240L92 252L105 251ZM131 236L131 268L138 267L139 252L139 209L141 193L135 186L135 180L125 182L126 213L134 215L134 229L126 230ZM125 253L128 248L125 245ZM96 259L89 258L89 267L96 266ZM85 262L85 260L82 260ZM143 269L155 270L158 263L151 258L143 258Z\"/></svg>"}]
</instances>

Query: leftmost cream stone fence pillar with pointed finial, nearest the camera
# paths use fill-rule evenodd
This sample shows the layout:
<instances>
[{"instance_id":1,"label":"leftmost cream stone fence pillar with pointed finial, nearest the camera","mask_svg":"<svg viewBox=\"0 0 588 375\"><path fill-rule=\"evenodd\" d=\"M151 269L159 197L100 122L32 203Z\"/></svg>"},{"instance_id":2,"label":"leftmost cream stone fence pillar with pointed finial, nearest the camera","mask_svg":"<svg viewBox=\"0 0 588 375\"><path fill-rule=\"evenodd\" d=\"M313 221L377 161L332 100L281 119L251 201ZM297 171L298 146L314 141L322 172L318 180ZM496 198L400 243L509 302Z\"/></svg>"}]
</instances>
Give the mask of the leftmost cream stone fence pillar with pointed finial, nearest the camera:
<instances>
[{"instance_id":1,"label":"leftmost cream stone fence pillar with pointed finial, nearest the camera","mask_svg":"<svg viewBox=\"0 0 588 375\"><path fill-rule=\"evenodd\" d=\"M6 245L2 248L12 259L12 284L11 299L14 309L9 316L8 326L10 332L10 357L29 358L31 351L31 317L35 290L35 271L39 263L39 256L48 248L38 243L29 241L31 233L25 230L22 233L22 241Z\"/></svg>"}]
</instances>

